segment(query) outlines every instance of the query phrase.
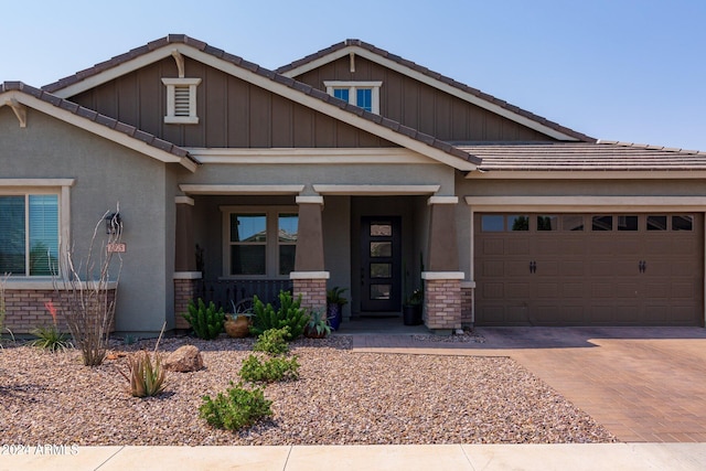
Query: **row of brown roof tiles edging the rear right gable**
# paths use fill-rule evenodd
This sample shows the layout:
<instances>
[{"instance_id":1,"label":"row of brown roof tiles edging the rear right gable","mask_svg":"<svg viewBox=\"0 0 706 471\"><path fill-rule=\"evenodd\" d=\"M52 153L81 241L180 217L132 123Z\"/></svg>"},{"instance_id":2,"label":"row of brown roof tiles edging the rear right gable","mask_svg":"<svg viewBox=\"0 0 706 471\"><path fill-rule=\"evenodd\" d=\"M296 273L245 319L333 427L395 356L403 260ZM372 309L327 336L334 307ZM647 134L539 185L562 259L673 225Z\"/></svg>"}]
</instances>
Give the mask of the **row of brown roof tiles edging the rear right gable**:
<instances>
[{"instance_id":1,"label":"row of brown roof tiles edging the rear right gable","mask_svg":"<svg viewBox=\"0 0 706 471\"><path fill-rule=\"evenodd\" d=\"M357 46L357 47L364 49L366 51L370 51L370 52L372 52L372 53L374 53L376 55L379 55L381 57L385 57L385 58L387 58L389 61L396 62L397 64L404 65L405 67L408 67L408 68L410 68L413 71L416 71L416 72L418 72L420 74L424 74L424 75L426 75L426 76L428 76L430 78L439 81L440 83L443 83L446 85L449 85L449 86L452 86L454 88L458 88L458 89L460 89L462 92L471 94L471 95L473 95L473 96L475 96L475 97L478 97L480 99L483 99L483 100L485 100L488 103L496 105L496 106L499 106L501 108L504 108L504 109L506 109L506 110L509 110L511 113L514 113L516 115L520 115L520 116L522 116L524 118L527 118L527 119L531 119L533 121L536 121L536 122L538 122L538 124L541 124L543 126L546 126L546 127L548 127L550 129L554 129L554 130L556 130L558 132L565 133L567 136L571 136L571 137L574 137L574 138L576 138L576 139L578 139L580 141L585 141L585 142L595 142L596 141L596 139L593 139L593 138L591 138L589 136L586 136L582 132L575 131L575 130L569 129L567 127L564 127L564 126L561 126L561 125L559 125L557 122L550 121L550 120L548 120L548 119L546 119L546 118L544 118L542 116L537 116L537 115L535 115L533 113L530 113L530 111L527 111L525 109L518 108L518 107L516 107L514 105L509 104L507 101L504 101L502 99L495 98L494 96L489 95L486 93L483 93L483 92L479 90L478 88L470 87L470 86L468 86L466 84L462 84L460 82L454 81L453 78L450 78L450 77L447 77L445 75L441 75L438 72L430 71L427 67L418 65L418 64L416 64L416 63L414 63L411 61L408 61L406 58L403 58L403 57L400 57L398 55L391 54L389 52L387 52L385 50L376 47L373 44L368 44L368 43L363 42L361 40L345 40L345 41L343 41L341 43L333 44L330 47L323 49L323 50L321 50L319 52L310 54L310 55L308 55L308 56L306 56L303 58L300 58L298 61L295 61L295 62L292 62L290 64L282 65L281 67L276 68L276 72L279 73L279 74L287 73L287 72L292 71L292 69L295 69L297 67L300 67L300 66L302 66L304 64L308 64L308 63L313 62L315 60L325 57L329 54L335 53L336 51L340 51L340 50L343 50L343 49L346 49L346 47L351 47L351 46Z\"/></svg>"}]
</instances>

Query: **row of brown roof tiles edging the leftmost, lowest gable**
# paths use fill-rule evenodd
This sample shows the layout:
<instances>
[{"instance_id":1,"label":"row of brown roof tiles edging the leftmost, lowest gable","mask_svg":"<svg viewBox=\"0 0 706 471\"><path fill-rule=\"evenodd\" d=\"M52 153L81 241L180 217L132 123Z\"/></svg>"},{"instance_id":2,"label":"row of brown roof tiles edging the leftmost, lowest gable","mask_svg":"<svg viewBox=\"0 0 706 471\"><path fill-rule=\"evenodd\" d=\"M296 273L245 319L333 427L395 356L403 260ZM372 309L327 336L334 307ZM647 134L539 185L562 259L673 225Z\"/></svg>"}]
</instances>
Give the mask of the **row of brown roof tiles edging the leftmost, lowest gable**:
<instances>
[{"instance_id":1,"label":"row of brown roof tiles edging the leftmost, lowest gable","mask_svg":"<svg viewBox=\"0 0 706 471\"><path fill-rule=\"evenodd\" d=\"M168 142L163 139L160 139L149 132L145 132L135 126L127 125L125 122L120 122L117 119L110 118L108 116L104 116L88 108L84 108L83 106L78 106L73 101L67 99L60 98L50 94L49 92L42 90L40 88L32 87L22 82L4 82L0 84L0 95L6 92L21 92L26 95L31 95L34 98L38 98L44 103L55 106L56 108L61 108L65 111L69 111L81 118L88 119L98 125L105 126L106 128L113 129L118 132L122 132L131 138L140 140L148 146L151 146L161 151L171 153L179 158L188 158L193 162L197 163L190 154L189 151L182 149L180 147L174 146L171 142Z\"/></svg>"}]
</instances>

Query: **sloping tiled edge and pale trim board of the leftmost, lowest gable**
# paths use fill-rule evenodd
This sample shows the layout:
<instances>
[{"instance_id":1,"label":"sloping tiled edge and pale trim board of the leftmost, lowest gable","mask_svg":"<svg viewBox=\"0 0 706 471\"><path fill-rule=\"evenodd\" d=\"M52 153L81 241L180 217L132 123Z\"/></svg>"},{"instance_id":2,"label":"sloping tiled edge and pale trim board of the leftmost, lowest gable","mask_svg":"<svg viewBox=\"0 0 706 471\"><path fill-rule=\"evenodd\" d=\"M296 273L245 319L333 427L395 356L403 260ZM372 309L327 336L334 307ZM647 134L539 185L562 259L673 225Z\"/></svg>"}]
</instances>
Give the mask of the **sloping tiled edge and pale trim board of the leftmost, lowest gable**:
<instances>
[{"instance_id":1,"label":"sloping tiled edge and pale trim board of the leftmost, lowest gable","mask_svg":"<svg viewBox=\"0 0 706 471\"><path fill-rule=\"evenodd\" d=\"M191 171L196 169L196 162L185 149L21 82L0 84L0 107L2 106L11 106L13 109L33 108L159 161L180 163Z\"/></svg>"}]
</instances>

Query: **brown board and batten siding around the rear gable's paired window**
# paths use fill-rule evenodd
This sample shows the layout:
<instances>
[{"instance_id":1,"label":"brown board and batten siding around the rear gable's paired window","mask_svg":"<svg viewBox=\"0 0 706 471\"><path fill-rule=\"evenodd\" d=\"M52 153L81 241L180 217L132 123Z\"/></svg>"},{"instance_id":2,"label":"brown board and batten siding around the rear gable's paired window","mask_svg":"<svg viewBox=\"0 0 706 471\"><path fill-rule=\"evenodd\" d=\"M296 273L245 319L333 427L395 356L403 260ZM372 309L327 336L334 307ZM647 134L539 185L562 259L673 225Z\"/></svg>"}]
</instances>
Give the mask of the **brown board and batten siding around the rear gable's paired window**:
<instances>
[{"instance_id":1,"label":"brown board and batten siding around the rear gable's paired window","mask_svg":"<svg viewBox=\"0 0 706 471\"><path fill-rule=\"evenodd\" d=\"M295 78L324 92L324 81L382 81L381 115L440 140L554 140L364 57L355 56L355 72L350 64L346 55Z\"/></svg>"}]
</instances>

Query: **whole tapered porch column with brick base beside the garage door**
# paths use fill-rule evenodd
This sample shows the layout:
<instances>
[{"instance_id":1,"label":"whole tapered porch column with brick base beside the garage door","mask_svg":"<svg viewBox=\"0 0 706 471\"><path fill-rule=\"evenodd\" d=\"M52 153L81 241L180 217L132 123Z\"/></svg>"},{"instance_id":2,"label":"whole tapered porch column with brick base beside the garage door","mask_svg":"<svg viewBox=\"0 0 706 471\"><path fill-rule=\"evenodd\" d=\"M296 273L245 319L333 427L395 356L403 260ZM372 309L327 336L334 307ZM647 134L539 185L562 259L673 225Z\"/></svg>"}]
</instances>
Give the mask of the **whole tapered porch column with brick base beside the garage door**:
<instances>
[{"instance_id":1,"label":"whole tapered porch column with brick base beside the garage door","mask_svg":"<svg viewBox=\"0 0 706 471\"><path fill-rule=\"evenodd\" d=\"M461 280L459 271L458 233L456 226L457 196L431 196L428 268L421 274L424 320L438 333L451 333L461 328Z\"/></svg>"}]
</instances>

